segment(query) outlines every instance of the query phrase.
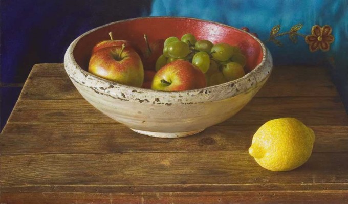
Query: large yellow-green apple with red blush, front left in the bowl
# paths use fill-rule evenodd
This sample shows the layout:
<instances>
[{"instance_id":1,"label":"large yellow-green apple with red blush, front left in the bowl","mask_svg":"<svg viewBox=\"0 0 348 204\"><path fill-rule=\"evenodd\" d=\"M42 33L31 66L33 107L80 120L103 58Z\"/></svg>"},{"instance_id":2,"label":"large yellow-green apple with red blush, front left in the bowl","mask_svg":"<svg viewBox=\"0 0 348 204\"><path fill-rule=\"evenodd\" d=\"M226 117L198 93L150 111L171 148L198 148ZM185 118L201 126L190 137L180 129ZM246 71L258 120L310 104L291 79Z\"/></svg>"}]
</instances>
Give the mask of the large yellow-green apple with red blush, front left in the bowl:
<instances>
[{"instance_id":1,"label":"large yellow-green apple with red blush, front left in the bowl","mask_svg":"<svg viewBox=\"0 0 348 204\"><path fill-rule=\"evenodd\" d=\"M144 69L137 52L130 47L106 47L93 53L88 71L101 78L129 86L141 87Z\"/></svg>"}]
</instances>

